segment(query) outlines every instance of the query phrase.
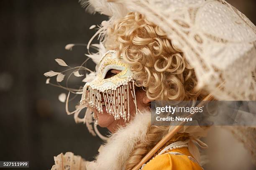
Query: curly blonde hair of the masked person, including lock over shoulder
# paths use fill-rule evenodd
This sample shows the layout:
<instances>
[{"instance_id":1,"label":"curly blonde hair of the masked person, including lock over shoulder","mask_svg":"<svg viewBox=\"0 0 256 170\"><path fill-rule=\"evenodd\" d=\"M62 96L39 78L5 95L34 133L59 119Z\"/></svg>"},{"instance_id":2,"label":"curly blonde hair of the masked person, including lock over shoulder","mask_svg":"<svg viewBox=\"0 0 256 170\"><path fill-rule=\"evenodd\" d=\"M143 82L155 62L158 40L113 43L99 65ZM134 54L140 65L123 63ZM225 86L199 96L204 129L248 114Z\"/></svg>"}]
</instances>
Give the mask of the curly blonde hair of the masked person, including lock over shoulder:
<instances>
[{"instance_id":1,"label":"curly blonde hair of the masked person, including lock over shoulder","mask_svg":"<svg viewBox=\"0 0 256 170\"><path fill-rule=\"evenodd\" d=\"M140 13L128 13L108 28L105 47L114 49L130 64L136 85L150 100L197 100L195 71L182 51L158 25ZM149 127L146 141L138 142L126 162L131 170L161 139L168 127Z\"/></svg>"}]
</instances>

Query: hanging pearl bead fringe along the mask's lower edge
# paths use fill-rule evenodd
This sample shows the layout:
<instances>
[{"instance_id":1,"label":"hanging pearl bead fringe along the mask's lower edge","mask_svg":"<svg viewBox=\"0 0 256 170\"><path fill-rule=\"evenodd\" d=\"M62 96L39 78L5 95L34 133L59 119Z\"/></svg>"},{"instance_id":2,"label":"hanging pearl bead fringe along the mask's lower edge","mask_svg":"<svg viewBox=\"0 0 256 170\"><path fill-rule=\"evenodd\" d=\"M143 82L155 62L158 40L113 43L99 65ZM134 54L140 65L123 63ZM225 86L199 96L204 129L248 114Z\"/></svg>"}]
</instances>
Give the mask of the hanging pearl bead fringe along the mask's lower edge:
<instances>
[{"instance_id":1,"label":"hanging pearl bead fringe along the mask's lower edge","mask_svg":"<svg viewBox=\"0 0 256 170\"><path fill-rule=\"evenodd\" d=\"M107 89L102 92L95 87L85 85L80 105L85 105L92 111L95 111L96 109L99 114L103 113L102 106L105 105L106 112L108 114L112 114L115 120L123 118L126 122L126 120L130 119L130 91L137 114L138 108L134 89L134 80L129 81L127 84L120 85L116 89ZM95 115L94 113L93 117L97 123L98 115Z\"/></svg>"}]
</instances>

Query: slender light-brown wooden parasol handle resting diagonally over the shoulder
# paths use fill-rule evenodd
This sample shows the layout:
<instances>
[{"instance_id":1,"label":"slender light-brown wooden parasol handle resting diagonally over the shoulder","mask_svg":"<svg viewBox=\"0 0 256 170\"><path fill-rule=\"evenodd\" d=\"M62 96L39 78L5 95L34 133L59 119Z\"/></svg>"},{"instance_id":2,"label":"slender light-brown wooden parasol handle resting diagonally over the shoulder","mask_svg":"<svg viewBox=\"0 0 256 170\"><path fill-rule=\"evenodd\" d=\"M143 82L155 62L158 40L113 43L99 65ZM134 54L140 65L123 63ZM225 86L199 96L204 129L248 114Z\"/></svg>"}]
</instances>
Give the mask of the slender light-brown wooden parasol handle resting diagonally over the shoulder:
<instances>
[{"instance_id":1,"label":"slender light-brown wooden parasol handle resting diagonally over the shoulder","mask_svg":"<svg viewBox=\"0 0 256 170\"><path fill-rule=\"evenodd\" d=\"M205 99L203 99L198 105L197 107L201 107L203 104L205 104L206 101L210 101L213 99L213 96L211 94L209 94L208 96L205 97ZM193 114L189 114L188 117L192 117ZM154 156L154 154L161 148L164 146L164 144L166 144L166 142L168 142L173 136L174 134L176 134L177 132L179 132L179 130L184 126L185 122L181 122L178 126L174 127L174 129L172 129L171 132L169 132L168 134L166 134L166 136L160 140L158 142L158 144L156 144L155 147L153 147L153 149L151 151L148 152L148 154L143 157L143 159L141 160L141 162L138 163L138 165L136 165L135 167L133 167L132 170L138 170L141 168L141 166L147 162L152 156Z\"/></svg>"}]
</instances>

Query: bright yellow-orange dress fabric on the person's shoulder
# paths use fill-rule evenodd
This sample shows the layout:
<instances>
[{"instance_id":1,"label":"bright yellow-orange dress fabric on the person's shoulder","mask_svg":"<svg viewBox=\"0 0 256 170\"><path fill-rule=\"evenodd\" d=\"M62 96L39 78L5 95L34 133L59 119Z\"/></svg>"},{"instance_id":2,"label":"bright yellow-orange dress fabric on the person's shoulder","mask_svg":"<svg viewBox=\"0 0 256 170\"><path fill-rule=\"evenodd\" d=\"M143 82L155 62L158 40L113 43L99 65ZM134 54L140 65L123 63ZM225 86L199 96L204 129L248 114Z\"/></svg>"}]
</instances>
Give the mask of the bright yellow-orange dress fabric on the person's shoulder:
<instances>
[{"instance_id":1,"label":"bright yellow-orange dress fabric on the person's shoulder","mask_svg":"<svg viewBox=\"0 0 256 170\"><path fill-rule=\"evenodd\" d=\"M176 152L179 154L175 155ZM142 170L202 170L202 167L195 161L187 147L182 147L157 155L146 163Z\"/></svg>"}]
</instances>

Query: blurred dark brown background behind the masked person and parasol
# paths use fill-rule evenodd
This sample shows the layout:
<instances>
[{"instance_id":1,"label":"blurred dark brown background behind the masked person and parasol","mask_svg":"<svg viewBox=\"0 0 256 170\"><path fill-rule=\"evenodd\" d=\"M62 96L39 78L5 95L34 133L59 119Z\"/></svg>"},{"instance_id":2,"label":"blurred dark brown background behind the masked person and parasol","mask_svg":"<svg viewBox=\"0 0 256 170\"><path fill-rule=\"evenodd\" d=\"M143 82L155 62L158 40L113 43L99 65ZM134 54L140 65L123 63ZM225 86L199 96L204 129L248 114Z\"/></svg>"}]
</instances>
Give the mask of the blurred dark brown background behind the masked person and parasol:
<instances>
[{"instance_id":1,"label":"blurred dark brown background behind the masked person and parasol","mask_svg":"<svg viewBox=\"0 0 256 170\"><path fill-rule=\"evenodd\" d=\"M70 66L82 63L85 48L67 51L65 45L87 43L95 33L89 27L107 19L84 12L77 1L0 1L1 161L28 160L29 169L48 170L54 165L53 156L61 152L93 160L102 144L66 114L58 95L67 91L46 85L43 76L49 70L64 70L55 58ZM256 23L255 0L228 2ZM88 66L93 68L93 63ZM73 83L77 88L83 85L81 80Z\"/></svg>"}]
</instances>

